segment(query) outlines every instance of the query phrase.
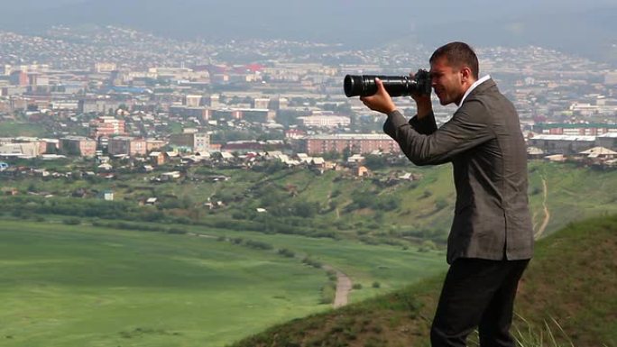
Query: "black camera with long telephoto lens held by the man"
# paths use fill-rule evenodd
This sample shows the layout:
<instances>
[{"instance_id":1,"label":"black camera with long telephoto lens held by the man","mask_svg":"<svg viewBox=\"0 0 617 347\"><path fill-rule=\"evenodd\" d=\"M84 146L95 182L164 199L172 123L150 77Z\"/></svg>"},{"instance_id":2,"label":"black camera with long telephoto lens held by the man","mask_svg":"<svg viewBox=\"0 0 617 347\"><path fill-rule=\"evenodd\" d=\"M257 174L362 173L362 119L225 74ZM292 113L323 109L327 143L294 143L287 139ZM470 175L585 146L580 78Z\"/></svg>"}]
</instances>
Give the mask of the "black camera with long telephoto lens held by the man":
<instances>
[{"instance_id":1,"label":"black camera with long telephoto lens held by the man","mask_svg":"<svg viewBox=\"0 0 617 347\"><path fill-rule=\"evenodd\" d=\"M372 96L377 93L375 78L382 80L383 87L390 96L430 94L430 73L419 69L413 78L409 76L347 75L343 81L345 96Z\"/></svg>"}]
</instances>

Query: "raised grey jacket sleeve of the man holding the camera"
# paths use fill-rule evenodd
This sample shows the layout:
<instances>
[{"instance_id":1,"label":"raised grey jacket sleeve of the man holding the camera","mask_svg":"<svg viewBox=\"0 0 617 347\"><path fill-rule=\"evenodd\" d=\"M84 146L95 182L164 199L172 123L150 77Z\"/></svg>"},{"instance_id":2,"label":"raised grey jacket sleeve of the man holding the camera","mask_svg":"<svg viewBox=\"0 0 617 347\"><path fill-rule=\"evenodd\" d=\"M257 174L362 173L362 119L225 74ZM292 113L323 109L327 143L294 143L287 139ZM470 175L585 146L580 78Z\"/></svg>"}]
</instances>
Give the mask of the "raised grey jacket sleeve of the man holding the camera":
<instances>
[{"instance_id":1,"label":"raised grey jacket sleeve of the man holding the camera","mask_svg":"<svg viewBox=\"0 0 617 347\"><path fill-rule=\"evenodd\" d=\"M451 161L457 154L494 138L489 116L481 103L469 101L450 121L430 132L428 123L435 118L409 123L395 111L388 114L383 131L399 143L401 151L416 165L437 165ZM416 119L415 121L413 121Z\"/></svg>"}]
</instances>

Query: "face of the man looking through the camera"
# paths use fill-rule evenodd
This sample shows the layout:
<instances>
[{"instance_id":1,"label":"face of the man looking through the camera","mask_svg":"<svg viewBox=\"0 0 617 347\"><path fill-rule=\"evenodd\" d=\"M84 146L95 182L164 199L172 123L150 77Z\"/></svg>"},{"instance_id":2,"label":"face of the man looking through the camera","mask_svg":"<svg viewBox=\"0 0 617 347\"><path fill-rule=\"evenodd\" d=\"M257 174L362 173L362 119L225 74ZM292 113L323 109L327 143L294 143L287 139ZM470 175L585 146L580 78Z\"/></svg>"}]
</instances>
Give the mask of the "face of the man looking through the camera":
<instances>
[{"instance_id":1,"label":"face of the man looking through the camera","mask_svg":"<svg viewBox=\"0 0 617 347\"><path fill-rule=\"evenodd\" d=\"M439 98L439 104L458 103L465 95L462 68L453 68L447 58L435 59L430 64L431 86Z\"/></svg>"}]
</instances>

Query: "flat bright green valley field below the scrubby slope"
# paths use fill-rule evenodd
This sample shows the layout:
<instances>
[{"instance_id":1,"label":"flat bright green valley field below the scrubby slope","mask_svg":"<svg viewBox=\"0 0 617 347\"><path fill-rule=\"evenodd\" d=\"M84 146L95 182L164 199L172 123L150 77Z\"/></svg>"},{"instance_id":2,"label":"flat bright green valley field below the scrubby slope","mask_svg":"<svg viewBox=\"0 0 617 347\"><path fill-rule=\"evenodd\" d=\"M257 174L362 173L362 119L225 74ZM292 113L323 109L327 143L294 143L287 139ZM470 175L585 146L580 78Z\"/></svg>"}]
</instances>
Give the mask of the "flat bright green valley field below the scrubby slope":
<instances>
[{"instance_id":1,"label":"flat bright green valley field below the scrubby slope","mask_svg":"<svg viewBox=\"0 0 617 347\"><path fill-rule=\"evenodd\" d=\"M0 224L3 346L222 346L330 308L319 304L327 273L302 264L307 255L363 284L353 301L445 267L438 252L359 242L189 227L205 236L197 237L53 222ZM228 242L240 237L274 248ZM297 255L281 257L280 248ZM371 288L374 281L381 288Z\"/></svg>"}]
</instances>

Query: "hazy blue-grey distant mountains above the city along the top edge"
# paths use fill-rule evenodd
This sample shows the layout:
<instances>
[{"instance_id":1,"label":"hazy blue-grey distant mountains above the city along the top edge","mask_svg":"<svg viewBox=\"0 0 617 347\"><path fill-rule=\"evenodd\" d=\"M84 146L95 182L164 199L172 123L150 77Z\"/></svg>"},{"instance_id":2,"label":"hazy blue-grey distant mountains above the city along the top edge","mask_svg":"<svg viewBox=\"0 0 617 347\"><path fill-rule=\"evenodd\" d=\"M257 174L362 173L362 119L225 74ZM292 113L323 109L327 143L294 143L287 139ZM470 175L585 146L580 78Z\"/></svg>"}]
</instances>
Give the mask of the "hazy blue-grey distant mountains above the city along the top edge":
<instances>
[{"instance_id":1,"label":"hazy blue-grey distant mountains above the city along the top edge","mask_svg":"<svg viewBox=\"0 0 617 347\"><path fill-rule=\"evenodd\" d=\"M116 24L176 38L277 38L354 47L414 38L429 47L539 45L617 65L617 5L570 0L497 3L448 0L25 0L0 29L41 32L53 24Z\"/></svg>"}]
</instances>

